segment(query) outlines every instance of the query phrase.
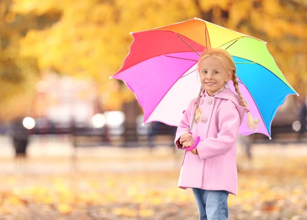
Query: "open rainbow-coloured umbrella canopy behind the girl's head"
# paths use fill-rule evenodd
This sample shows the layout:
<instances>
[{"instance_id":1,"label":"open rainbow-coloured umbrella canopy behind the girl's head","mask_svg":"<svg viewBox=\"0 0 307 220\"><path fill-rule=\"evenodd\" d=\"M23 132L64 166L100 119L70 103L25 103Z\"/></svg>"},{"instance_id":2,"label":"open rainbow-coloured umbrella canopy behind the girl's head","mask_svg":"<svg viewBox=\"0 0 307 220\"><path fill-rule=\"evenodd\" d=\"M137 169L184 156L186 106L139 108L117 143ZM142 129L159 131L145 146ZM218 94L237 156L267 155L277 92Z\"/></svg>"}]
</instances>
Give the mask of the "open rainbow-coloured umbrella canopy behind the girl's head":
<instances>
[{"instance_id":1,"label":"open rainbow-coloured umbrella canopy behind the girl's head","mask_svg":"<svg viewBox=\"0 0 307 220\"><path fill-rule=\"evenodd\" d=\"M201 83L196 63L207 48L222 48L232 55L239 89L252 115L260 119L254 132L270 137L277 109L288 95L297 94L267 43L255 37L199 18L130 34L129 54L112 78L121 79L134 92L144 111L144 124L179 125L191 98L198 97ZM234 91L232 83L229 87ZM246 122L239 129L243 135L254 132Z\"/></svg>"}]
</instances>

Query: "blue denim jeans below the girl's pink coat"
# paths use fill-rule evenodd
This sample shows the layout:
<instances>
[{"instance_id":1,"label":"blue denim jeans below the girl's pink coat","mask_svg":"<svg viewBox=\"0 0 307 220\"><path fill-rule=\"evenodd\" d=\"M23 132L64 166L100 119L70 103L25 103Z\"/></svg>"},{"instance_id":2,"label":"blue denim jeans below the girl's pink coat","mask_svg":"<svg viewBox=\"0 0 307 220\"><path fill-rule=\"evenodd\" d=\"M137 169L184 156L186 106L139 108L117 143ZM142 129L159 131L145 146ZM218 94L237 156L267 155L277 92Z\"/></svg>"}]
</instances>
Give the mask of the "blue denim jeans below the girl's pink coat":
<instances>
[{"instance_id":1,"label":"blue denim jeans below the girl's pink coat","mask_svg":"<svg viewBox=\"0 0 307 220\"><path fill-rule=\"evenodd\" d=\"M200 220L228 220L228 192L192 188Z\"/></svg>"}]
</instances>

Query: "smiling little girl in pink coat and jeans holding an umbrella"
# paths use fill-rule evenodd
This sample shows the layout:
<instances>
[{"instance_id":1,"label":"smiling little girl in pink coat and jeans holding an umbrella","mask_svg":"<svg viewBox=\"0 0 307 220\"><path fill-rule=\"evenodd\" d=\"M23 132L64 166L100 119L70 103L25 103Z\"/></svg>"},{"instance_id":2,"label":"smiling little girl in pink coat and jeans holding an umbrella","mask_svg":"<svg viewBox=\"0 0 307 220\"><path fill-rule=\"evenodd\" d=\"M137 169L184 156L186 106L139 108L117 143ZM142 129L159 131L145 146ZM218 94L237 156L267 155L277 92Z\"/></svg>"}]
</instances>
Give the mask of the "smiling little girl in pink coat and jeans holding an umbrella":
<instances>
[{"instance_id":1,"label":"smiling little girl in pink coat and jeans holding an umbrella","mask_svg":"<svg viewBox=\"0 0 307 220\"><path fill-rule=\"evenodd\" d=\"M201 220L225 220L228 219L228 194L237 194L239 127L245 112L251 130L257 128L259 120L252 117L239 91L236 68L226 50L204 51L198 67L203 92L196 109L195 125L190 131L197 101L193 99L179 124L175 144L185 149L194 144L195 137L200 136L201 140L196 148L185 152L178 186L192 188ZM230 80L237 94L225 87Z\"/></svg>"}]
</instances>

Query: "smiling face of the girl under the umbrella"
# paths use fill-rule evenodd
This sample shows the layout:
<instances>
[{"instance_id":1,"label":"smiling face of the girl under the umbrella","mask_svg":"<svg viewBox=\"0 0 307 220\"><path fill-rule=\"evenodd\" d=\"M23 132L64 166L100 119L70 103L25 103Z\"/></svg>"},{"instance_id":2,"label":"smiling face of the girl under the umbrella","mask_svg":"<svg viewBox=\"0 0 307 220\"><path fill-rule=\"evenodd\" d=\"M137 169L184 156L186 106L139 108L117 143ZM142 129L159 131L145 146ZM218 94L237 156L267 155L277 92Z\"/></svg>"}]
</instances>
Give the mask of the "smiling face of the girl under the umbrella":
<instances>
[{"instance_id":1,"label":"smiling face of the girl under the umbrella","mask_svg":"<svg viewBox=\"0 0 307 220\"><path fill-rule=\"evenodd\" d=\"M215 57L206 57L199 64L201 83L208 95L222 89L230 81L232 71L226 70L223 63Z\"/></svg>"}]
</instances>

